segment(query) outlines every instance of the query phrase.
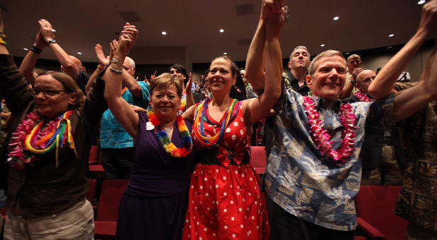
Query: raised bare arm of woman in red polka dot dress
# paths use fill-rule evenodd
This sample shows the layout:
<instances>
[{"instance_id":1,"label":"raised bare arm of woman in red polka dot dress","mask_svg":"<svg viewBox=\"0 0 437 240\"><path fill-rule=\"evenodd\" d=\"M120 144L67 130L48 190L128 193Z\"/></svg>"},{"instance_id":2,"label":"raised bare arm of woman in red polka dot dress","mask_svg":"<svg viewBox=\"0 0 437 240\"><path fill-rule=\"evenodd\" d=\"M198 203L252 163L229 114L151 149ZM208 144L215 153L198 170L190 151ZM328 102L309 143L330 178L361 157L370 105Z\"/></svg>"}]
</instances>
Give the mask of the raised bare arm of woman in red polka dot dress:
<instances>
[{"instance_id":1,"label":"raised bare arm of woman in red polka dot dress","mask_svg":"<svg viewBox=\"0 0 437 240\"><path fill-rule=\"evenodd\" d=\"M267 16L265 29L264 93L255 99L243 102L245 119L251 124L264 119L281 95L282 54L279 33L284 25L282 6L284 6L284 0L274 0L269 3L270 13Z\"/></svg>"}]
</instances>

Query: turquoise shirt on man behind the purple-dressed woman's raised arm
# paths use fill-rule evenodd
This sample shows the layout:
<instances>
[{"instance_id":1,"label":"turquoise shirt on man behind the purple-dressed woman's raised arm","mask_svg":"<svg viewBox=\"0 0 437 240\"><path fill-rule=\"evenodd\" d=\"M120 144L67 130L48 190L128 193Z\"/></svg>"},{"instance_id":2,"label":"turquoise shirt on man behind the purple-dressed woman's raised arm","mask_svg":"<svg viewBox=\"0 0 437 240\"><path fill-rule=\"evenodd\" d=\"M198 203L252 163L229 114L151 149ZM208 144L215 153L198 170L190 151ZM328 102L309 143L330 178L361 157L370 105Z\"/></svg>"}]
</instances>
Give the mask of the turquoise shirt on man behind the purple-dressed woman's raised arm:
<instances>
[{"instance_id":1,"label":"turquoise shirt on man behind the purple-dressed woman's raised arm","mask_svg":"<svg viewBox=\"0 0 437 240\"><path fill-rule=\"evenodd\" d=\"M129 90L124 91L122 97L127 103L146 109L148 107L149 88L143 81L138 81L141 88L142 98L134 97ZM100 148L132 148L134 139L124 131L122 125L115 119L110 109L102 115L100 125Z\"/></svg>"}]
</instances>

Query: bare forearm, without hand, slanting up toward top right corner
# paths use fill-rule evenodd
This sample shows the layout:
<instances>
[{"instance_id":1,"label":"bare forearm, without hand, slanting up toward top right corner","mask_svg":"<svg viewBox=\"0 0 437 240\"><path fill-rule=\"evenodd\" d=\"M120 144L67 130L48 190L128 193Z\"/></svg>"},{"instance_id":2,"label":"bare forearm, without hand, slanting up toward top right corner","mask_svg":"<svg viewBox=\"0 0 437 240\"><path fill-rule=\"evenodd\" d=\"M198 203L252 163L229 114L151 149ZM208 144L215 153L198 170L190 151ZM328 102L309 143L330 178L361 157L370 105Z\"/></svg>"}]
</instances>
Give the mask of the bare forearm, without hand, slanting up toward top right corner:
<instances>
[{"instance_id":1,"label":"bare forearm, without hand, slanting up toward top right corner","mask_svg":"<svg viewBox=\"0 0 437 240\"><path fill-rule=\"evenodd\" d=\"M388 61L368 88L369 94L375 99L383 99L392 92L392 86L402 73L414 54L424 43L427 33L419 30L395 56Z\"/></svg>"}]
</instances>

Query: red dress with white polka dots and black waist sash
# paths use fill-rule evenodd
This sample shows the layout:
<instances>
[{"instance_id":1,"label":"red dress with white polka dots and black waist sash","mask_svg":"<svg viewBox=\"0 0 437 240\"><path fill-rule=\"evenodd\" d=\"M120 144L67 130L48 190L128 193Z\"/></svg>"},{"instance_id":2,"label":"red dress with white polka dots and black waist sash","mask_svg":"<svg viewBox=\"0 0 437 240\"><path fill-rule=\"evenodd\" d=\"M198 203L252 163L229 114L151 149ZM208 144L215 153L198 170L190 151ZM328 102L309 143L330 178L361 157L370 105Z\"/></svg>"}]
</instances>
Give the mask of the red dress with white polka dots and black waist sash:
<instances>
[{"instance_id":1,"label":"red dress with white polka dots and black waist sash","mask_svg":"<svg viewBox=\"0 0 437 240\"><path fill-rule=\"evenodd\" d=\"M207 109L205 112L210 122L202 121L204 133L206 137L214 136L221 131L226 114L219 123L209 116ZM182 239L269 238L260 178L247 163L250 133L246 131L240 103L233 114L235 118L224 128L223 137L214 147L201 145L193 129L194 145L206 154L197 158L201 163L196 164L191 175ZM207 158L214 158L215 163L205 161Z\"/></svg>"}]
</instances>

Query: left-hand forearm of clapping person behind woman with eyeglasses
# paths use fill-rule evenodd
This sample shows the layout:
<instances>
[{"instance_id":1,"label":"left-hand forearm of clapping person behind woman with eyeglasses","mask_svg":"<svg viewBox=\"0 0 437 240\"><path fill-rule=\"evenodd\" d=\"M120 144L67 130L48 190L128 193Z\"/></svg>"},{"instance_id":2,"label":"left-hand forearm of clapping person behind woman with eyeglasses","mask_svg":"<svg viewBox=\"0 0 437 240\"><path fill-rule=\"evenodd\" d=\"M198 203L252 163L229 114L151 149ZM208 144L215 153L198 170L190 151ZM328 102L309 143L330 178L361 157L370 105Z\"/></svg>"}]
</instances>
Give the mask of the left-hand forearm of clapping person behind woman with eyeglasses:
<instances>
[{"instance_id":1,"label":"left-hand forearm of clapping person behind woman with eyeglasses","mask_svg":"<svg viewBox=\"0 0 437 240\"><path fill-rule=\"evenodd\" d=\"M23 74L25 79L28 80L28 82L32 85L35 83L35 76L33 76L33 69L35 68L36 61L40 56L42 49L44 49L45 47L47 47L47 43L42 37L41 30L40 30L35 37L35 44L33 44L28 54L25 55L23 61L21 62L20 65L21 74Z\"/></svg>"}]
</instances>

